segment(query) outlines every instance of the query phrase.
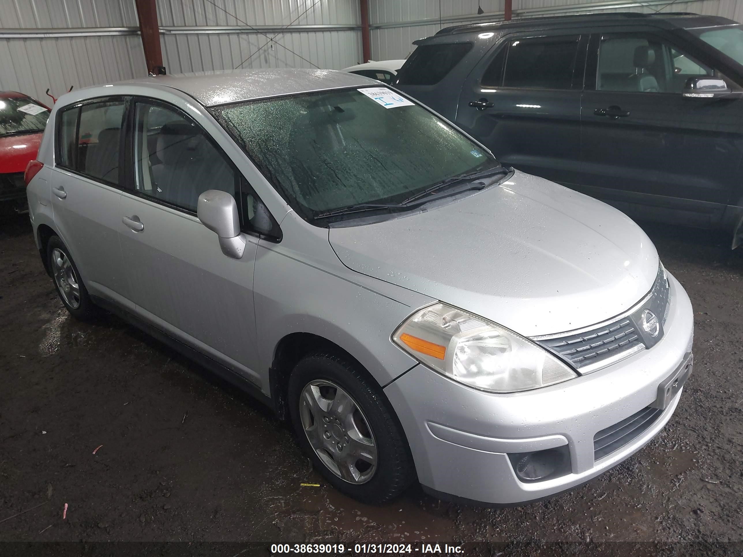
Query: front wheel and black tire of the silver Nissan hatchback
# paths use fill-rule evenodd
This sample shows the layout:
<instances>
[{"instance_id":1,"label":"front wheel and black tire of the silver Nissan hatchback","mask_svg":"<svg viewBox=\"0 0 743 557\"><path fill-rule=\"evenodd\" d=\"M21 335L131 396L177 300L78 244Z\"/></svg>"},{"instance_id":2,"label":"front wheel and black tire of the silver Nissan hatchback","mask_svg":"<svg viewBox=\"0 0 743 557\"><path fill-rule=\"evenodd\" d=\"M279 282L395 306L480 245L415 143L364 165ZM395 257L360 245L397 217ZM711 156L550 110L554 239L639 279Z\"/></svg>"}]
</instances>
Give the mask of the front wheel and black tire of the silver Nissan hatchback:
<instances>
[{"instance_id":1,"label":"front wheel and black tire of the silver Nissan hatchback","mask_svg":"<svg viewBox=\"0 0 743 557\"><path fill-rule=\"evenodd\" d=\"M415 480L392 408L357 364L325 352L305 356L289 378L288 402L300 446L340 492L383 504Z\"/></svg>"}]
</instances>

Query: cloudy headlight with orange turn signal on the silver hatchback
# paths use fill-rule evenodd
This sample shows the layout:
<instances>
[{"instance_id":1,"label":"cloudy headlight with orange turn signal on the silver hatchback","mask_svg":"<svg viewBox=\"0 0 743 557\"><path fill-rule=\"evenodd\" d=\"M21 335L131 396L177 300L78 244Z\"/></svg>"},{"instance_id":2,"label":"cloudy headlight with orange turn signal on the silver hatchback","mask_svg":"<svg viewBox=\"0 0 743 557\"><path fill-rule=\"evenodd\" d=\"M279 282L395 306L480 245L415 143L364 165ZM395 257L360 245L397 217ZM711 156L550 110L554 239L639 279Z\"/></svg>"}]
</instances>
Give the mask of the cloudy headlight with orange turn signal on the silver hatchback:
<instances>
[{"instance_id":1,"label":"cloudy headlight with orange turn signal on the silver hatchback","mask_svg":"<svg viewBox=\"0 0 743 557\"><path fill-rule=\"evenodd\" d=\"M441 302L406 319L392 340L429 368L482 391L528 391L578 377L533 342Z\"/></svg>"}]
</instances>

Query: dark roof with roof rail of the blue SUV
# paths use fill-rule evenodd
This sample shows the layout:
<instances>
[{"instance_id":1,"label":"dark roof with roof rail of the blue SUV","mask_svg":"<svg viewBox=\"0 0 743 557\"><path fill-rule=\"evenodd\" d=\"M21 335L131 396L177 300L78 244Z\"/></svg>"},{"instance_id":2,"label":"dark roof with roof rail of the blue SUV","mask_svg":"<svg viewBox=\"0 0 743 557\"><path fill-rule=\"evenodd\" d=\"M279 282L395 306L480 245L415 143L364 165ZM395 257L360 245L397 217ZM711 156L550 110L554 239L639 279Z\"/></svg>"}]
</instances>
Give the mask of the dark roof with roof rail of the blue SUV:
<instances>
[{"instance_id":1,"label":"dark roof with roof rail of the blue SUV","mask_svg":"<svg viewBox=\"0 0 743 557\"><path fill-rule=\"evenodd\" d=\"M700 16L697 13L690 12L669 12L669 13L637 13L637 12L614 12L614 13L584 13L573 16L546 16L531 17L522 19L513 19L509 22L484 22L469 23L465 25L452 25L444 27L435 34L453 35L458 33L471 33L482 30L499 29L501 27L562 27L565 25L594 25L600 23L617 23L638 25L648 22L654 22L668 28L689 28L701 25L730 25L735 24L731 19L718 16ZM416 41L418 43L418 41Z\"/></svg>"}]
</instances>

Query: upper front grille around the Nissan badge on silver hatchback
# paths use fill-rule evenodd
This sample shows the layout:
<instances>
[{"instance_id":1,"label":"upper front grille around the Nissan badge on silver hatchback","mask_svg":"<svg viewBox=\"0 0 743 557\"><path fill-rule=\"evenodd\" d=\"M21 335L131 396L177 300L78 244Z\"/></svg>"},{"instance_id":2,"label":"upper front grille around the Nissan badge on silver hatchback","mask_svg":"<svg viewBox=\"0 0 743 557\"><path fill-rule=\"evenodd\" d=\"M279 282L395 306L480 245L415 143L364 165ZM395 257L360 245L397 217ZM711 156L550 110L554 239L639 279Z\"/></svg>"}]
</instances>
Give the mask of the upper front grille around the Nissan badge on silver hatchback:
<instances>
[{"instance_id":1,"label":"upper front grille around the Nissan badge on silver hatchback","mask_svg":"<svg viewBox=\"0 0 743 557\"><path fill-rule=\"evenodd\" d=\"M669 284L663 267L658 267L658 275L649 294L630 313L596 328L534 340L577 370L590 373L637 351L655 346L663 338L668 300ZM642 328L643 313L646 310L652 311L661 323L656 336ZM611 360L607 361L609 359ZM606 363L602 365L602 362Z\"/></svg>"}]
</instances>

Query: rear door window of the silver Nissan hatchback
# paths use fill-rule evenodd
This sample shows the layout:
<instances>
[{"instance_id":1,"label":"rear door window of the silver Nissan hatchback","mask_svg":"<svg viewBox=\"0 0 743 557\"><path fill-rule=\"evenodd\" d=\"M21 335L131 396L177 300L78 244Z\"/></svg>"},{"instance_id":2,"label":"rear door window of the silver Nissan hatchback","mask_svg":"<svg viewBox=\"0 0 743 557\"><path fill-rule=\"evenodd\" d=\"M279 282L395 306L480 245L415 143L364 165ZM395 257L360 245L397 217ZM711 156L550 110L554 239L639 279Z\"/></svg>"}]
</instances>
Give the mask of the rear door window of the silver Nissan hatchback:
<instances>
[{"instance_id":1,"label":"rear door window of the silver Nissan hatchback","mask_svg":"<svg viewBox=\"0 0 743 557\"><path fill-rule=\"evenodd\" d=\"M119 185L125 102L90 102L60 113L57 164L94 180Z\"/></svg>"}]
</instances>

